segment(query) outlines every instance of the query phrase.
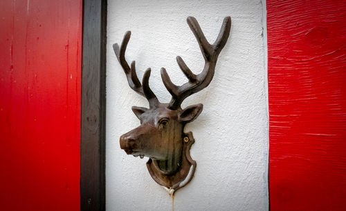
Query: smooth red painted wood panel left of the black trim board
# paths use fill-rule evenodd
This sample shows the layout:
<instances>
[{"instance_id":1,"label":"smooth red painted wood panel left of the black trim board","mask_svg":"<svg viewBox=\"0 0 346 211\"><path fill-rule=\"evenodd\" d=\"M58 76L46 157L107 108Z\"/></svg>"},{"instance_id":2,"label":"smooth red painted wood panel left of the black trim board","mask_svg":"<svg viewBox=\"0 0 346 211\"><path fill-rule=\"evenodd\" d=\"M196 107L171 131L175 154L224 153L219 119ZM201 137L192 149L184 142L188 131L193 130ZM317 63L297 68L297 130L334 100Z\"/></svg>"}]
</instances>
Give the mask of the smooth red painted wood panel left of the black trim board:
<instances>
[{"instance_id":1,"label":"smooth red painted wood panel left of the black trim board","mask_svg":"<svg viewBox=\"0 0 346 211\"><path fill-rule=\"evenodd\" d=\"M80 210L82 0L0 10L0 210Z\"/></svg>"}]
</instances>

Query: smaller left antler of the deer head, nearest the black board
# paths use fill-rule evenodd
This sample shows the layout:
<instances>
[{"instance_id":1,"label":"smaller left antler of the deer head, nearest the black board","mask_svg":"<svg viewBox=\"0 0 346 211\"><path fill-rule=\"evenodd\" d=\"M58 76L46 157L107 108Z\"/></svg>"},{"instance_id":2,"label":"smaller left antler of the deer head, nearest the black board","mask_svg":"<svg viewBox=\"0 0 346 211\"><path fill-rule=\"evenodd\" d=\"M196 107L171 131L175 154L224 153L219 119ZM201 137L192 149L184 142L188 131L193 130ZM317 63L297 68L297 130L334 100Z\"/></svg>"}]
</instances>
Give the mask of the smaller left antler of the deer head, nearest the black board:
<instances>
[{"instance_id":1,"label":"smaller left antler of the deer head, nearest the black board","mask_svg":"<svg viewBox=\"0 0 346 211\"><path fill-rule=\"evenodd\" d=\"M124 35L124 39L122 39L120 48L118 46L118 43L115 43L113 44L113 50L116 53L116 57L118 58L118 61L126 74L127 82L129 83L130 88L138 94L144 96L149 101L149 107L152 108L158 103L158 99L154 92L152 92L152 90L149 88L149 77L151 69L147 68L147 70L145 70L142 86L136 74L135 61L132 61L130 68L129 64L125 59L125 51L127 48L127 43L129 43L130 37L131 31L127 31Z\"/></svg>"}]
</instances>

